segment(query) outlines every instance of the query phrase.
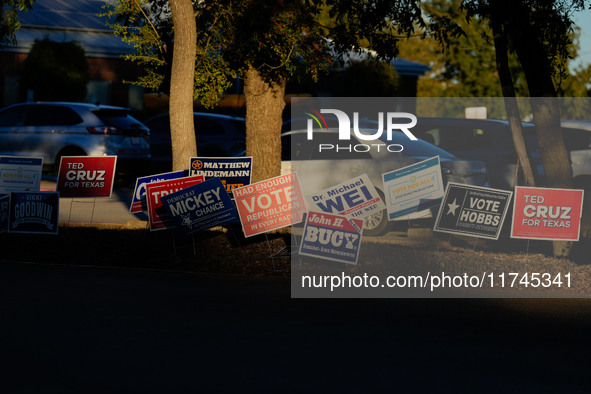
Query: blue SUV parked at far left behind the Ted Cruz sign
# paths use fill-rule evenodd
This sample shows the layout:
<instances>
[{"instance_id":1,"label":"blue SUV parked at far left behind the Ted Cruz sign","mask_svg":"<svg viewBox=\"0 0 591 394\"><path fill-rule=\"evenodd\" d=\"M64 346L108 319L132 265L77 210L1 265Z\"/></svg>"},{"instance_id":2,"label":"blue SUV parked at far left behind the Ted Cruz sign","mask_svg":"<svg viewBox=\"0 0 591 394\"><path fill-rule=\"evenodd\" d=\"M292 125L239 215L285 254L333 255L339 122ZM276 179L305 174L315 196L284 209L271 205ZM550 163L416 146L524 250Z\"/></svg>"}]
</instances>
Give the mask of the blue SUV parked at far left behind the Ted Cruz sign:
<instances>
[{"instance_id":1,"label":"blue SUV parked at far left behind the Ted Cruz sign","mask_svg":"<svg viewBox=\"0 0 591 394\"><path fill-rule=\"evenodd\" d=\"M21 103L0 111L0 155L42 157L46 170L62 156L117 156L117 171L149 164L148 128L129 108L87 103Z\"/></svg>"}]
</instances>

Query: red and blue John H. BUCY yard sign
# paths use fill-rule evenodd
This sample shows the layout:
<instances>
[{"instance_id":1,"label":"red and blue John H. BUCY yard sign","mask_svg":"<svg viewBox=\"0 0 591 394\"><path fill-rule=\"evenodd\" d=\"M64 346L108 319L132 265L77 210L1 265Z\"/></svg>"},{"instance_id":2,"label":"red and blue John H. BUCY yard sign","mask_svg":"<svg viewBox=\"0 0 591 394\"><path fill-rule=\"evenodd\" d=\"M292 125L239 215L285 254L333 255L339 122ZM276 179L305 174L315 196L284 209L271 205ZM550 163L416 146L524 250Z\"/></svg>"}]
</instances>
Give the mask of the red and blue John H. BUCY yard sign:
<instances>
[{"instance_id":1,"label":"red and blue John H. BUCY yard sign","mask_svg":"<svg viewBox=\"0 0 591 394\"><path fill-rule=\"evenodd\" d=\"M308 212L299 253L341 263L357 264L363 232L362 219Z\"/></svg>"}]
</instances>

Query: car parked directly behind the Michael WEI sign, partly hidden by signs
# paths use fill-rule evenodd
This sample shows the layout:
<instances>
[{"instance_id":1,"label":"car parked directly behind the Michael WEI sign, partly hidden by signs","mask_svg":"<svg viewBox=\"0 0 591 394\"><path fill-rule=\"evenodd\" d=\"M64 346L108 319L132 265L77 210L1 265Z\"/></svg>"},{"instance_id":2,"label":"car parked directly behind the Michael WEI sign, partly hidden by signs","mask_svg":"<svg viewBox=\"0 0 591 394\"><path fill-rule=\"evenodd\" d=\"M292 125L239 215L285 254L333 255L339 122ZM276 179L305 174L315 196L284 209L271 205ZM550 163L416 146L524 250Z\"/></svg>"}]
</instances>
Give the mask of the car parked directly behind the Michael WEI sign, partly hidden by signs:
<instances>
[{"instance_id":1,"label":"car parked directly behind the Michael WEI sign, partly hidden by signs","mask_svg":"<svg viewBox=\"0 0 591 394\"><path fill-rule=\"evenodd\" d=\"M363 132L363 129L361 129ZM369 131L367 131L369 133ZM373 133L372 133L373 134ZM478 160L463 160L421 139L409 140L403 133L393 133L390 141L376 141L367 144L367 152L340 149L338 152L318 151L319 144L342 144L338 131L315 132L313 140L307 139L307 130L288 131L282 134L282 173L295 171L307 199L308 207L313 206L310 196L333 185L367 174L383 198L382 174L407 165L439 156L444 184L459 182L470 185L488 186L485 164ZM392 153L379 148L379 143L400 144L402 152ZM355 136L347 144L361 144ZM365 149L365 148L364 148ZM433 212L401 217L398 220L432 217ZM380 235L388 230L386 211L366 218L365 235Z\"/></svg>"}]
</instances>

